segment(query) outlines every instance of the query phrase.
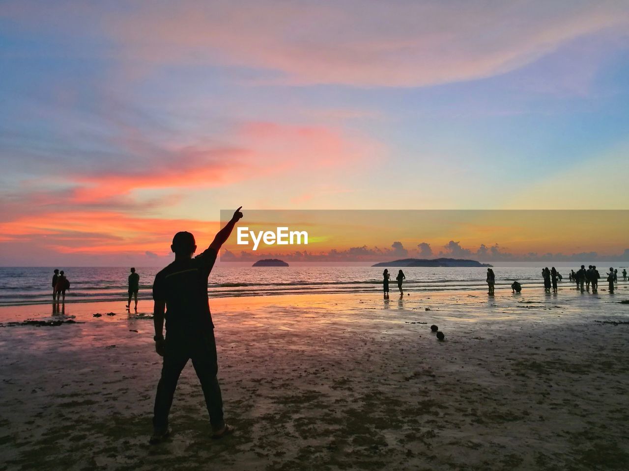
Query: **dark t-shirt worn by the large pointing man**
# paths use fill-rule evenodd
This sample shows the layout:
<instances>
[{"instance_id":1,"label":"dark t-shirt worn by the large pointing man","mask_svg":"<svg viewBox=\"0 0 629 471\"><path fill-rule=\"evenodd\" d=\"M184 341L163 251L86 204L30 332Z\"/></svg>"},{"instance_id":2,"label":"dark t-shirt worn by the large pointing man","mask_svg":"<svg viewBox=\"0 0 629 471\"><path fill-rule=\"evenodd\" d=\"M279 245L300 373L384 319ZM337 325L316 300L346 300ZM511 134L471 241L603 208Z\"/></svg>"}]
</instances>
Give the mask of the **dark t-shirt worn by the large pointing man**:
<instances>
[{"instance_id":1,"label":"dark t-shirt worn by the large pointing man","mask_svg":"<svg viewBox=\"0 0 629 471\"><path fill-rule=\"evenodd\" d=\"M209 312L208 277L216 251L175 260L155 276L153 300L166 303L166 333L187 333L214 328Z\"/></svg>"}]
</instances>

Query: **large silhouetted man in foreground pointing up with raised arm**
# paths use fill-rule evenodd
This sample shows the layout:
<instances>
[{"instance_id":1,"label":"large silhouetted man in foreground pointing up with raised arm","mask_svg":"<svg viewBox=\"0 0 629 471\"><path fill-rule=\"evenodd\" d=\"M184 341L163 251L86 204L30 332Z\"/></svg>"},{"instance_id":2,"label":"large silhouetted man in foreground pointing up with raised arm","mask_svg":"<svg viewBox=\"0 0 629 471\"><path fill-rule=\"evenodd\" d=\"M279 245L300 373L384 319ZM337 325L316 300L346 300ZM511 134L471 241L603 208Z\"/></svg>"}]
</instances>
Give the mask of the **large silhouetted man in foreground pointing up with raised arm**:
<instances>
[{"instance_id":1,"label":"large silhouetted man in foreground pointing up with raised arm","mask_svg":"<svg viewBox=\"0 0 629 471\"><path fill-rule=\"evenodd\" d=\"M208 304L208 277L218 251L242 217L240 208L216 234L208 249L194 258L192 254L197 248L194 236L190 232L177 232L170 246L175 252L175 261L155 276L155 351L164 357L164 363L155 395L151 443L158 443L170 435L170 405L179 375L189 359L201 381L213 430L212 437L221 438L231 431L223 420L223 398L216 379L218 361L214 324ZM164 318L165 340L162 335Z\"/></svg>"}]
</instances>

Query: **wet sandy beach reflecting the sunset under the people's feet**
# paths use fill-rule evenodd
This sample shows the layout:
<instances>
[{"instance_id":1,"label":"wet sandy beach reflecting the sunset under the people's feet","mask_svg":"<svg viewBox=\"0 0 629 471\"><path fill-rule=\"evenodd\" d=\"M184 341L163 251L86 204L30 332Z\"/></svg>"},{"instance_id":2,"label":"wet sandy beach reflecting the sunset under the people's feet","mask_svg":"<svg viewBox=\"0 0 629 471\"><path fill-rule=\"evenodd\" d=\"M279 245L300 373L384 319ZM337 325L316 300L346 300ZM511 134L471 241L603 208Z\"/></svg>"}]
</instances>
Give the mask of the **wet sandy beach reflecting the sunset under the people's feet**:
<instances>
[{"instance_id":1,"label":"wet sandy beach reflecting the sunset under the people's feet","mask_svg":"<svg viewBox=\"0 0 629 471\"><path fill-rule=\"evenodd\" d=\"M8 323L51 305L2 308L0 470L626 469L628 299L620 283L211 300L237 431L209 439L189 364L156 446L149 302L67 304L58 327Z\"/></svg>"}]
</instances>

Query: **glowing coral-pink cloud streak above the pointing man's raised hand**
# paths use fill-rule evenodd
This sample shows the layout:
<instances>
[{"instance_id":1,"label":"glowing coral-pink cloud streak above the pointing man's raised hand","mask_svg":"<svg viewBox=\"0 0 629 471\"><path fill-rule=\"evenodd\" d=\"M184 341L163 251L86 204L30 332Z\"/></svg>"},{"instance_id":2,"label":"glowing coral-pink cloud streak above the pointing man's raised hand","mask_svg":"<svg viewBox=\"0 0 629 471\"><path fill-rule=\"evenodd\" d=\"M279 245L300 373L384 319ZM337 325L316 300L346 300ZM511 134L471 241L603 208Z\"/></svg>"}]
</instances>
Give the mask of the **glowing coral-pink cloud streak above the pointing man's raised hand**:
<instances>
[{"instance_id":1,"label":"glowing coral-pink cloud streak above the pointing man's raised hand","mask_svg":"<svg viewBox=\"0 0 629 471\"><path fill-rule=\"evenodd\" d=\"M323 171L369 161L381 152L381 145L371 139L321 126L248 122L238 126L231 139L237 145L160 149L155 156L144 155L142 144L132 141L128 152L143 155L145 165L70 171L76 185L72 201L97 202L142 188L210 188L292 171Z\"/></svg>"}]
</instances>

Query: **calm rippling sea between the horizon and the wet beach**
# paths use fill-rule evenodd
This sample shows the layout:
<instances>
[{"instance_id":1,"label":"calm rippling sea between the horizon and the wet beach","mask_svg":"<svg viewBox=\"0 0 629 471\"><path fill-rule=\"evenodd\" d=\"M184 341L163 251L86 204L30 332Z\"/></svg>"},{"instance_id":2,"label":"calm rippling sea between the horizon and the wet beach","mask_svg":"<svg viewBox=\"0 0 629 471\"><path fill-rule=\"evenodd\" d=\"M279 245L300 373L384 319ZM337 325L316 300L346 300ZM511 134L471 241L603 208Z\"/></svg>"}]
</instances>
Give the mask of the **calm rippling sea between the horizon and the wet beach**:
<instances>
[{"instance_id":1,"label":"calm rippling sea between the horizon and the wet beach","mask_svg":"<svg viewBox=\"0 0 629 471\"><path fill-rule=\"evenodd\" d=\"M626 262L623 263L626 266ZM622 271L621 264L613 264ZM550 266L550 265L549 265ZM574 266L574 269L577 269ZM604 283L610 262L597 264ZM0 267L0 306L47 303L52 300L53 269L65 271L71 285L65 302L127 299L128 267ZM496 290L510 290L517 280L524 288L543 286L543 266L494 267ZM601 269L603 268L603 269ZM399 268L389 268L391 294L398 292ZM405 291L486 289L486 268L404 268ZM570 268L558 268L562 285L569 283ZM140 274L138 299L152 298L157 267L136 267ZM294 295L303 293L381 293L384 268L370 266L251 267L221 264L209 276L210 298L225 296ZM620 278L621 279L621 278Z\"/></svg>"}]
</instances>

